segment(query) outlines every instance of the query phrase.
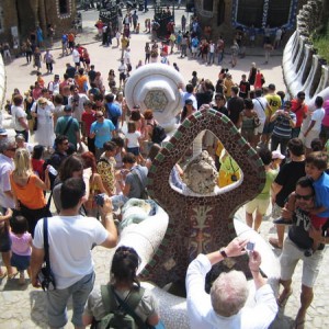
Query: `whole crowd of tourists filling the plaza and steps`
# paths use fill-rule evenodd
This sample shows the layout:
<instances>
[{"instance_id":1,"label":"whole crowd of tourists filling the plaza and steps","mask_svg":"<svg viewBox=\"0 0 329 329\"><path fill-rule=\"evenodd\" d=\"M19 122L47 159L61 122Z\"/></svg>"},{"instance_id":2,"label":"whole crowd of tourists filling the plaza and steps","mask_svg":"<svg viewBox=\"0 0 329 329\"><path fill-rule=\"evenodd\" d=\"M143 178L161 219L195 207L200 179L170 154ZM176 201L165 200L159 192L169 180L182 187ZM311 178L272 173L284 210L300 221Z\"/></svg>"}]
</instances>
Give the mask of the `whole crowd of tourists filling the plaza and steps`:
<instances>
[{"instance_id":1,"label":"whole crowd of tourists filling the plaza and steps","mask_svg":"<svg viewBox=\"0 0 329 329\"><path fill-rule=\"evenodd\" d=\"M127 16L124 25L131 24L137 33L138 18L134 20L132 15L129 21ZM98 26L102 36L105 32L102 42L106 45L109 26L103 27ZM150 23L151 31L154 27ZM156 38L156 30L154 32ZM191 37L186 31L183 33L171 31L168 43L159 44L156 39L147 43L144 64L160 61L169 65L168 56L174 47L182 57L200 56L208 64L223 61L223 38L217 43L200 38L197 20L191 25ZM56 290L47 292L48 321L54 328L66 325L70 296L73 297L72 322L76 327L100 321L105 316L103 296L106 293L104 288L93 287L90 249L95 245L116 246L118 235L114 219L120 217L113 214L112 206L115 208L116 203L122 205L133 197L148 197L148 169L161 149L162 140L158 144L154 138L155 127L160 124L155 120L152 109L141 113L139 104L129 109L125 101L124 86L134 69L129 36L123 33L116 37L117 46L122 46L122 60L117 69L109 71L109 88L92 65L87 47L76 45L73 36L64 35L63 55L70 53L72 65L67 64L63 78L54 75L54 80L45 86L42 75L37 75L27 91L15 90L7 104L16 136L11 138L4 129L0 131L0 241L5 265L0 277L12 279L19 273L19 283L23 285L27 271L32 284L39 286L38 272L45 256L43 218L55 215L50 212L50 201L54 201L56 215L47 224L56 280ZM235 43L238 45L237 39L234 46ZM33 46L26 42L26 61L31 63L33 54L38 71L42 55L37 44ZM239 52L237 47L231 52L231 66L235 67ZM47 72L52 73L50 49L43 59ZM185 86L178 84L182 99L178 123L209 106L228 116L258 151L266 181L263 191L246 205L246 223L259 231L272 201L277 239L272 238L270 242L282 249L281 284L284 287L277 304L283 306L292 294L292 275L296 262L302 259L305 271L296 328L304 328L327 243L329 101L317 97L315 109L308 107L303 91L287 100L273 83L265 87L265 77L256 63L240 81L234 81L231 71L223 68L214 82L193 71ZM211 132L203 138L203 148L216 161L219 188L241 178L238 163L225 150L225 143ZM182 179L183 171L178 172ZM46 191L50 191L48 198ZM103 205L100 205L100 195ZM291 227L284 240L286 224ZM246 277L238 272L220 275L214 282L211 297L200 298L205 294L205 275L212 265L227 257L246 253L246 246L247 241L236 239L220 252L201 254L191 263L186 292L192 328L213 328L228 322L235 326L241 321L246 328L263 328L274 319L277 305L272 288L260 274L258 251L249 254L249 268L257 286L253 309L245 308L248 288ZM139 259L134 249L118 248L113 258L113 277L107 294L117 294L124 300L129 299L131 293L139 296L135 308L138 318L150 326L159 326L157 300L147 290L140 294L136 276L138 266ZM234 292L232 287L236 288ZM266 314L260 320L252 316L259 309Z\"/></svg>"}]
</instances>

